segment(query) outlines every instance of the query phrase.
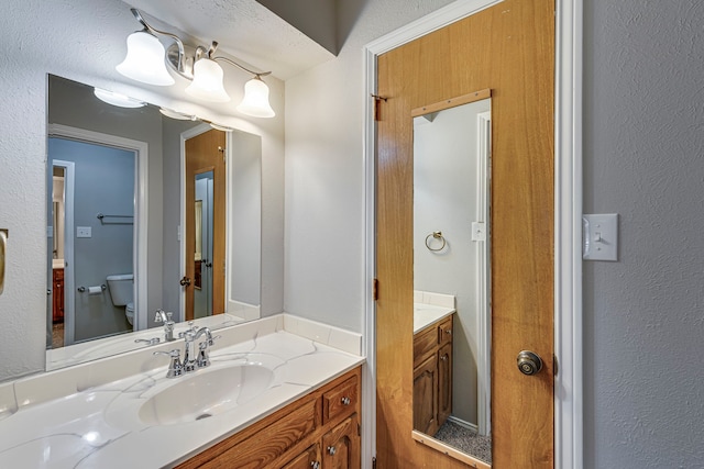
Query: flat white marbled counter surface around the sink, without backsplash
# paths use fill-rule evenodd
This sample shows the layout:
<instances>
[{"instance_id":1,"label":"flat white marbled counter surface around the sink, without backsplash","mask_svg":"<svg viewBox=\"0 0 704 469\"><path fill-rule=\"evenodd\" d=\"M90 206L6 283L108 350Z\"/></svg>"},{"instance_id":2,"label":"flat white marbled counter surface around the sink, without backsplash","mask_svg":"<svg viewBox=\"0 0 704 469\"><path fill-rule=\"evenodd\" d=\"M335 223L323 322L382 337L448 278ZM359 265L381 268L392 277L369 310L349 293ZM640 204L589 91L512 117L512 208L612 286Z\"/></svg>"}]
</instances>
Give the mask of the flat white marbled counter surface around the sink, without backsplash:
<instances>
[{"instance_id":1,"label":"flat white marbled counter surface around the sink, without backsplash","mask_svg":"<svg viewBox=\"0 0 704 469\"><path fill-rule=\"evenodd\" d=\"M302 328L302 322L294 327ZM334 334L340 332L333 331L330 340ZM183 348L182 342L177 344ZM216 349L210 358L210 367L175 379L165 378L164 366L59 399L18 402L19 410L0 412L0 468L172 467L364 361L359 355L280 328L263 335L256 332L249 339ZM164 365L168 361L166 357L156 359ZM109 366L108 361L102 364ZM142 404L154 393L191 376L238 364L263 365L274 371L268 387L256 398L237 402L230 411L186 423L150 426L138 416ZM95 365L86 368L92 369ZM40 382L50 379L42 377L44 381ZM18 401L22 399L20 391L21 387L13 389Z\"/></svg>"}]
</instances>

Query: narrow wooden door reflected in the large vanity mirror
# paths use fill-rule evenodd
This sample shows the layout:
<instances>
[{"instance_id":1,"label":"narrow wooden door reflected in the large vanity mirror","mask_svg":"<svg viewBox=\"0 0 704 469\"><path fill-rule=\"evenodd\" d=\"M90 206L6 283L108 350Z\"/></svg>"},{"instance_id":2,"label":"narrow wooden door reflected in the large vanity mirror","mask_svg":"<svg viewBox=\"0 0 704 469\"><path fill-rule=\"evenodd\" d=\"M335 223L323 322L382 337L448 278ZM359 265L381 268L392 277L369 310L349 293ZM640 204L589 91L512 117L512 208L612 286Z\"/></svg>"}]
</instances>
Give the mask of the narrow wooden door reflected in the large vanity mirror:
<instances>
[{"instance_id":1,"label":"narrow wooden door reflected in the large vanity mirror","mask_svg":"<svg viewBox=\"0 0 704 469\"><path fill-rule=\"evenodd\" d=\"M212 217L212 314L224 313L224 231L226 231L226 134L211 130L186 141L186 321L194 319L196 279L196 175L213 174Z\"/></svg>"}]
</instances>

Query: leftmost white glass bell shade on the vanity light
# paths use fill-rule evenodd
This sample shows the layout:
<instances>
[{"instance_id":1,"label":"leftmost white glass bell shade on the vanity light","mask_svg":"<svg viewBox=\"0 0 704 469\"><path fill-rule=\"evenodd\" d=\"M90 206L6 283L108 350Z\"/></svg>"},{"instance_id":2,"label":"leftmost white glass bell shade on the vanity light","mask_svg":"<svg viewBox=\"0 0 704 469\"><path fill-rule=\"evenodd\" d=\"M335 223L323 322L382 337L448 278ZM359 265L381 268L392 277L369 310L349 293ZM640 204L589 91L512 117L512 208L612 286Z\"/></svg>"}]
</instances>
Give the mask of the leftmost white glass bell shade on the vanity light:
<instances>
[{"instance_id":1,"label":"leftmost white glass bell shade on the vanity light","mask_svg":"<svg viewBox=\"0 0 704 469\"><path fill-rule=\"evenodd\" d=\"M128 55L116 69L133 80L167 87L175 81L166 70L165 54L164 46L156 36L146 31L138 31L128 36Z\"/></svg>"}]
</instances>

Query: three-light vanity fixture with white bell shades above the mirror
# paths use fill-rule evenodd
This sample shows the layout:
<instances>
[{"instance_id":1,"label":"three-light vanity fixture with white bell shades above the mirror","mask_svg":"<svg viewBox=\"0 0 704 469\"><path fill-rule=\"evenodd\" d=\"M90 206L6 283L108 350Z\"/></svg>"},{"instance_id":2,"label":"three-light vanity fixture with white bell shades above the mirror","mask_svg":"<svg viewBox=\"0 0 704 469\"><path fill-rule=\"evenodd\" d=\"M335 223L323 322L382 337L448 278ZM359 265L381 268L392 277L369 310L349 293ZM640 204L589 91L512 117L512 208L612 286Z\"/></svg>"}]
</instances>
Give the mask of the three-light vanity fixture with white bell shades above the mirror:
<instances>
[{"instance_id":1,"label":"three-light vanity fixture with white bell shades above the mirror","mask_svg":"<svg viewBox=\"0 0 704 469\"><path fill-rule=\"evenodd\" d=\"M173 71L191 81L186 87L186 92L189 96L206 101L228 102L230 97L223 86L224 72L218 64L218 62L224 62L254 76L245 83L244 98L237 110L254 118L276 115L268 102L268 87L262 80L262 77L270 75L271 71L253 71L227 57L215 57L213 54L218 48L218 43L215 41L210 47L206 48L199 45L193 54L187 54L187 46L178 36L152 27L138 9L133 8L130 11L144 26L144 30L132 33L128 37L128 56L117 67L120 74L144 83L168 86L174 83L174 79L168 75L164 66L166 64ZM156 35L170 37L174 44L165 51ZM188 48L193 49L193 47ZM142 68L142 70L138 72L134 71L134 68ZM162 68L170 78L170 82L168 80L151 80L151 77L162 76Z\"/></svg>"}]
</instances>

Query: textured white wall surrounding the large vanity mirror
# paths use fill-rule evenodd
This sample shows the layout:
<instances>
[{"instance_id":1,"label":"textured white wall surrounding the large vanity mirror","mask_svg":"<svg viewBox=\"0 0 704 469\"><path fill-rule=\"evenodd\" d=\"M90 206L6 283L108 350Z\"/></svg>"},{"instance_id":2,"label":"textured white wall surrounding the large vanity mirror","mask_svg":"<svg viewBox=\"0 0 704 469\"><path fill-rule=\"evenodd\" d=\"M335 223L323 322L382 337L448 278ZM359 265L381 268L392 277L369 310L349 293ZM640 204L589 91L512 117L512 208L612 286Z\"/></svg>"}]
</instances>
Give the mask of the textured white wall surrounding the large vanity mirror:
<instances>
[{"instance_id":1,"label":"textured white wall surrounding the large vanity mirror","mask_svg":"<svg viewBox=\"0 0 704 469\"><path fill-rule=\"evenodd\" d=\"M0 15L0 227L10 231L0 295L0 381L44 369L47 72L262 134L267 246L262 276L270 286L265 294L283 304L283 83L266 78L277 111L273 120L238 118L231 104L205 108L184 101L183 80L174 91L136 88L114 65L124 56L127 35L138 29L129 5L118 0L28 0ZM228 92L238 102L248 77L234 69L226 76Z\"/></svg>"}]
</instances>

